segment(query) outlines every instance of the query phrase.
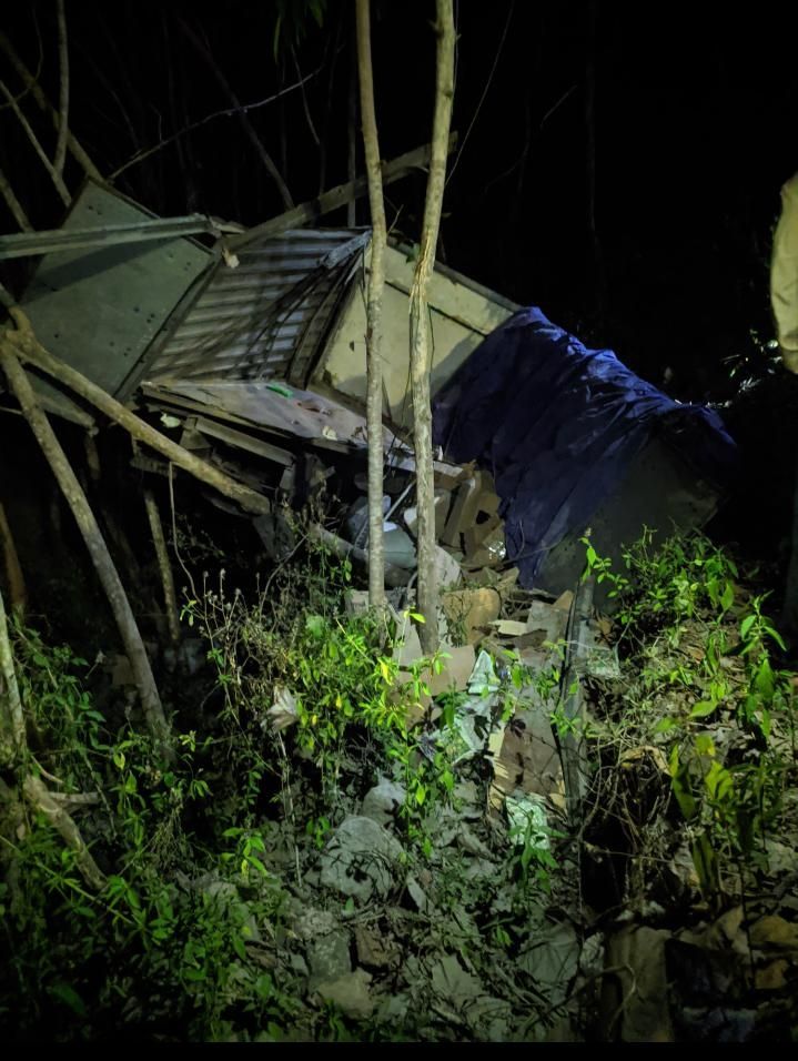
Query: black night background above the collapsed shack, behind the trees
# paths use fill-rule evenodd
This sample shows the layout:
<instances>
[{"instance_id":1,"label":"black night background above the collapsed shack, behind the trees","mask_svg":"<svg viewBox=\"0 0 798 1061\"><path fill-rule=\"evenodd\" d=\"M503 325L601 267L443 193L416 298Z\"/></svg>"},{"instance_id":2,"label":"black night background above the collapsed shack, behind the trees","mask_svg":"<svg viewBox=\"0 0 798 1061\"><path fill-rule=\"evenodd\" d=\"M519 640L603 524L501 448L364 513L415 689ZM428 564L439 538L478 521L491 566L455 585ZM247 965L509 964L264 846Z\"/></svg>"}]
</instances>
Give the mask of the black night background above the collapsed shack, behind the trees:
<instances>
[{"instance_id":1,"label":"black night background above the collapsed shack, behind the trees","mask_svg":"<svg viewBox=\"0 0 798 1061\"><path fill-rule=\"evenodd\" d=\"M101 171L229 107L183 20L242 102L292 84L297 69L319 70L304 100L294 91L250 117L296 202L320 190L306 110L326 144L325 186L345 180L352 6L330 0L323 28L309 19L295 60L283 48L275 64L277 7L67 0L71 124ZM373 10L390 159L428 140L434 6L378 0ZM778 189L798 169L798 63L786 6L733 13L730 4L459 0L455 10L462 153L444 206L447 263L613 346L655 383L670 366L681 396L721 393L723 358L751 348L751 329L770 337L770 231ZM0 21L34 68L41 41L41 81L54 98L53 12L52 0L6 4ZM0 77L19 90L2 55ZM31 221L58 224L59 201L8 108L0 137L0 165ZM68 175L74 186L77 172ZM254 223L283 209L232 117L129 169L118 188L163 214ZM387 192L388 219L408 239L423 193L422 176ZM0 228L12 230L1 205Z\"/></svg>"}]
</instances>

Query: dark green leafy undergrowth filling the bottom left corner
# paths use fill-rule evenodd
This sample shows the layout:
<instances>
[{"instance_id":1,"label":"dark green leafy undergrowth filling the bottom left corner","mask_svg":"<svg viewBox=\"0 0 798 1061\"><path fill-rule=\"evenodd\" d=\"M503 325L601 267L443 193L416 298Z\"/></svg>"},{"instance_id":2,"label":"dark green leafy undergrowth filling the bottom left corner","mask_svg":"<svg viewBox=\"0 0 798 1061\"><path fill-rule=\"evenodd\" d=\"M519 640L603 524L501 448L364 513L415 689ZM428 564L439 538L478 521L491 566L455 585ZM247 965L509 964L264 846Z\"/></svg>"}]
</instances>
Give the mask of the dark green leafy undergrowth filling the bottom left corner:
<instances>
[{"instance_id":1,"label":"dark green leafy undergrowth filling the bottom left corner","mask_svg":"<svg viewBox=\"0 0 798 1061\"><path fill-rule=\"evenodd\" d=\"M49 648L18 628L14 651L30 768L57 777L64 798L97 794L100 808L81 827L107 883L89 890L50 821L17 805L14 838L3 830L11 869L0 887L0 1020L8 1034L37 1037L47 1024L53 1039L93 1039L125 1027L158 1034L179 1025L202 1040L223 1037L231 1015L255 1027L285 1021L295 1003L248 949L254 926L274 923L283 903L263 839L230 826L223 835L234 848L213 855L188 829L209 811L208 740L180 735L166 766L127 724L109 731L74 673L85 664L68 648ZM190 883L192 870L208 883Z\"/></svg>"}]
</instances>

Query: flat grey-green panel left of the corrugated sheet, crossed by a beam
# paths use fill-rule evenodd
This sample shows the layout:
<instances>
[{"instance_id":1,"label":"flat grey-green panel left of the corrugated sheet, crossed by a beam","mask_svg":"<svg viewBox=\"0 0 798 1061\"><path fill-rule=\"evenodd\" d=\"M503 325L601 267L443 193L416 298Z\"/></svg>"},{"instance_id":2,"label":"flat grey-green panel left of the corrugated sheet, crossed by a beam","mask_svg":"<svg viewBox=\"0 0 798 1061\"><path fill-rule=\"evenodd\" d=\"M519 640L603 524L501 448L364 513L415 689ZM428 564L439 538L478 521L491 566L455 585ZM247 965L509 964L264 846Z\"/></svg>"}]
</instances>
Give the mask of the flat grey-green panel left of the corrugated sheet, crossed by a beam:
<instances>
[{"instance_id":1,"label":"flat grey-green panel left of the corrugated sheet, crossed by a beam","mask_svg":"<svg viewBox=\"0 0 798 1061\"><path fill-rule=\"evenodd\" d=\"M90 182L63 228L134 224L152 216ZM211 260L186 239L59 251L42 257L20 302L42 345L124 400L144 352ZM49 384L37 387L68 402Z\"/></svg>"}]
</instances>

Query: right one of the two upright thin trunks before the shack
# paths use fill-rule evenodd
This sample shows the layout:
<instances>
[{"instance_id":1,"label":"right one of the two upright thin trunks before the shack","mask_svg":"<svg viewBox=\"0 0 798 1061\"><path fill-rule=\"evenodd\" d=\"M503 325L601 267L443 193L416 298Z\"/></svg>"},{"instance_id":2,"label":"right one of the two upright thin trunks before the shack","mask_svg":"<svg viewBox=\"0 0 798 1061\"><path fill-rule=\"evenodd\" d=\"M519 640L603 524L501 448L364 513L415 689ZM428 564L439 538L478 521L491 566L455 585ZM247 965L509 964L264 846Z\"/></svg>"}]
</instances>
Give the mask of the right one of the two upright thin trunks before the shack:
<instances>
[{"instance_id":1,"label":"right one of the two upright thin trunks before the shack","mask_svg":"<svg viewBox=\"0 0 798 1061\"><path fill-rule=\"evenodd\" d=\"M425 653L438 646L437 579L435 575L435 483L432 456L432 408L430 398L431 343L427 289L435 265L435 247L446 182L448 130L454 99L454 17L452 0L437 0L437 75L432 156L426 185L424 223L410 301L411 385L413 395L413 443L416 462L416 507L418 512L418 610L425 623L418 637Z\"/></svg>"}]
</instances>

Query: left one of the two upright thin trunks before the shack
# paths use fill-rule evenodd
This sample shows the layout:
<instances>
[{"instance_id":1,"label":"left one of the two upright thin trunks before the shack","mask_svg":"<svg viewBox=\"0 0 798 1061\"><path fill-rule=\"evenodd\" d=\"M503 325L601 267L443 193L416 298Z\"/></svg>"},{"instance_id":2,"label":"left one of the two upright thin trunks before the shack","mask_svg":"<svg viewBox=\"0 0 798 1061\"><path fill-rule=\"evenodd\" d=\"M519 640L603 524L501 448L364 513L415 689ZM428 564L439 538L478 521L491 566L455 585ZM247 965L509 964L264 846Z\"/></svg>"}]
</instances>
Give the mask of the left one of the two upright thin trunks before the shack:
<instances>
[{"instance_id":1,"label":"left one of the two upright thin trunks before the shack","mask_svg":"<svg viewBox=\"0 0 798 1061\"><path fill-rule=\"evenodd\" d=\"M368 603L385 604L385 549L383 540L383 372L382 313L385 287L385 202L380 166L380 140L374 109L374 71L368 6L356 0L357 70L361 85L363 146L372 215L372 255L366 297L366 430L368 433Z\"/></svg>"}]
</instances>

